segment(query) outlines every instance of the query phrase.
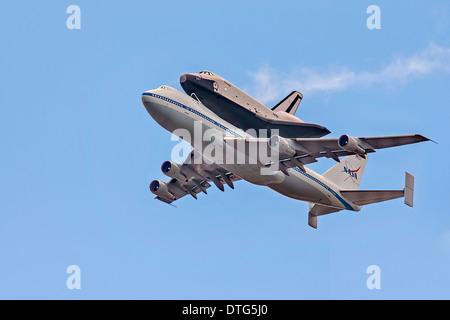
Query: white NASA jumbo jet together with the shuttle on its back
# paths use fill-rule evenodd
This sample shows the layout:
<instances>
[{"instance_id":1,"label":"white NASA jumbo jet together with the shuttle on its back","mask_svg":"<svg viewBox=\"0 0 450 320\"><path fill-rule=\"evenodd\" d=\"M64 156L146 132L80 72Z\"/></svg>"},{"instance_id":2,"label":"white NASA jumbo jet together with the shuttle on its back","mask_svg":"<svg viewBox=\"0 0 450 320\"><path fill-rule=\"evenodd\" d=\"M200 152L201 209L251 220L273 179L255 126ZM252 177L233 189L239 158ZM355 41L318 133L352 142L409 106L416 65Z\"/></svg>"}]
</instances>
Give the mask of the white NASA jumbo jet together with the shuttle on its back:
<instances>
[{"instance_id":1,"label":"white NASA jumbo jet together with the shuttle on its back","mask_svg":"<svg viewBox=\"0 0 450 320\"><path fill-rule=\"evenodd\" d=\"M198 85L206 80L207 86ZM183 164L162 164L162 172L171 179L150 183L156 199L169 204L185 195L197 199L199 193L207 194L210 183L224 191L225 184L234 189L242 179L309 202L308 224L314 228L318 216L360 211L371 203L404 197L413 206L414 177L409 173L403 190L358 188L369 153L428 138L419 134L322 138L329 133L326 128L293 115L303 97L298 92L271 110L209 71L199 73L198 79L183 75L180 82L190 96L168 86L142 94L153 119L193 146ZM321 157L337 162L322 175L306 167Z\"/></svg>"}]
</instances>

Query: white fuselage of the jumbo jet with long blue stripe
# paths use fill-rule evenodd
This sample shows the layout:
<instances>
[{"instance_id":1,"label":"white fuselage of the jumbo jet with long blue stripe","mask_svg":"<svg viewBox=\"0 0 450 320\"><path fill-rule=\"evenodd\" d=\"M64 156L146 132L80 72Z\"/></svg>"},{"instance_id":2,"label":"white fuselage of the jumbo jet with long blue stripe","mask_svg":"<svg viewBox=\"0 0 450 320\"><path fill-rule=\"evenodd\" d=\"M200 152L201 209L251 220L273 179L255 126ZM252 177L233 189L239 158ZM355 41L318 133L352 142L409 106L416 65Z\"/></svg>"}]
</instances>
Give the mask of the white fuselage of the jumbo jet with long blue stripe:
<instances>
[{"instance_id":1,"label":"white fuselage of the jumbo jet with long blue stripe","mask_svg":"<svg viewBox=\"0 0 450 320\"><path fill-rule=\"evenodd\" d=\"M170 132L175 131L176 133L176 129L182 128L189 131L191 137L199 133L203 137L206 130L213 129L225 136L252 138L250 134L219 118L199 101L174 88L161 86L158 89L146 91L142 95L142 101L155 121ZM196 121L202 123L201 132L195 132ZM188 142L193 144L192 141ZM225 148L225 142L222 143L222 146ZM193 147L196 146L193 145ZM203 150L198 151L203 153ZM235 150L235 152L240 151ZM247 158L245 164L223 163L219 165L250 183L268 186L290 198L340 209L355 211L360 209L359 206L344 199L332 182L308 168L305 172L298 168L290 168L288 169L289 176L281 171L267 175L261 174L263 164L248 163L251 162Z\"/></svg>"}]
</instances>

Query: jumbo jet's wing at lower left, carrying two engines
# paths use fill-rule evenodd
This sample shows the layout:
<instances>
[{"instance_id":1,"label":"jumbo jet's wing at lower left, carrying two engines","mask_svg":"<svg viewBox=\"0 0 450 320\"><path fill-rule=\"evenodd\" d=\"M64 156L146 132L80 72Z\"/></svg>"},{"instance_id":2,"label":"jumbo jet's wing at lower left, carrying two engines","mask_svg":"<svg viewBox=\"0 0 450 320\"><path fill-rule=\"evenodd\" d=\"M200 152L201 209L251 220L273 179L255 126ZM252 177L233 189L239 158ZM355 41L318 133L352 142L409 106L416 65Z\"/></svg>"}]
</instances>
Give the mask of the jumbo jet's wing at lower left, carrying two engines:
<instances>
[{"instance_id":1,"label":"jumbo jet's wing at lower left, carrying two engines","mask_svg":"<svg viewBox=\"0 0 450 320\"><path fill-rule=\"evenodd\" d=\"M173 195L174 199L158 195L155 199L168 204L185 195L191 195L197 199L198 193L203 192L207 194L206 190L211 187L209 182L215 184L221 191L225 191L224 184L234 189L233 182L241 180L240 177L228 172L217 164L206 164L203 160L201 164L196 164L194 161L195 157L201 157L201 155L197 151L192 150L180 166L183 179L172 178L169 182L166 182L168 192Z\"/></svg>"}]
</instances>

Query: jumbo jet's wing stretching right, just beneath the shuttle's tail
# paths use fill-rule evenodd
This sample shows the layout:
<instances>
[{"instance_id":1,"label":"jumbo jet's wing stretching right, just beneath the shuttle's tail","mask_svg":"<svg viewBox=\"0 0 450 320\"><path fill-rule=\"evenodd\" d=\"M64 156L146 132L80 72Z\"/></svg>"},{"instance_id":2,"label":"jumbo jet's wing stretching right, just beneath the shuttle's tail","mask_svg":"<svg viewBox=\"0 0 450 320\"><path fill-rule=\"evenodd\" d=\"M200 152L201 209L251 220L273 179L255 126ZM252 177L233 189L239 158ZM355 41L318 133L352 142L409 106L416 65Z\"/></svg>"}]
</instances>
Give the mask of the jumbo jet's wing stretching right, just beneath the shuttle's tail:
<instances>
[{"instance_id":1,"label":"jumbo jet's wing stretching right, just beneath the shuttle's tail","mask_svg":"<svg viewBox=\"0 0 450 320\"><path fill-rule=\"evenodd\" d=\"M316 159L320 157L332 158L339 162L339 157L342 156L358 154L364 157L365 154L375 152L376 149L430 140L420 134L362 138L343 135L340 138L283 138L272 136L270 139L228 137L225 139L245 140L248 143L267 141L272 148L277 148L282 164L286 167L298 166L301 169L304 169L303 165L316 162ZM280 168L280 170L287 172L284 169L283 166Z\"/></svg>"}]
</instances>

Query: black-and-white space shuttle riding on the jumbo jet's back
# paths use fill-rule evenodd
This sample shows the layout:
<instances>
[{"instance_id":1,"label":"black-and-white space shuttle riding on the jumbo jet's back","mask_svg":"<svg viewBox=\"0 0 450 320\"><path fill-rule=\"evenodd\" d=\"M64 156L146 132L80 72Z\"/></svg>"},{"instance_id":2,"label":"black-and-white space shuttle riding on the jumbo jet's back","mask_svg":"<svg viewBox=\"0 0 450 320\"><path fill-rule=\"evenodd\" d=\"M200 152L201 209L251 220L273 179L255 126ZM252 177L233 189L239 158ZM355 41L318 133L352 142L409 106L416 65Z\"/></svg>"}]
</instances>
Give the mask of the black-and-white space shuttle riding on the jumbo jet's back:
<instances>
[{"instance_id":1,"label":"black-and-white space shuttle riding on the jumbo jet's back","mask_svg":"<svg viewBox=\"0 0 450 320\"><path fill-rule=\"evenodd\" d=\"M303 95L293 91L272 109L222 77L210 72L180 77L183 90L220 118L242 130L276 129L283 137L320 138L330 133L324 126L306 123L295 116ZM256 135L259 132L255 132Z\"/></svg>"}]
</instances>

